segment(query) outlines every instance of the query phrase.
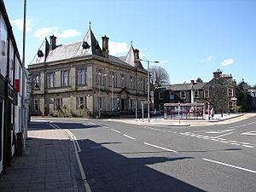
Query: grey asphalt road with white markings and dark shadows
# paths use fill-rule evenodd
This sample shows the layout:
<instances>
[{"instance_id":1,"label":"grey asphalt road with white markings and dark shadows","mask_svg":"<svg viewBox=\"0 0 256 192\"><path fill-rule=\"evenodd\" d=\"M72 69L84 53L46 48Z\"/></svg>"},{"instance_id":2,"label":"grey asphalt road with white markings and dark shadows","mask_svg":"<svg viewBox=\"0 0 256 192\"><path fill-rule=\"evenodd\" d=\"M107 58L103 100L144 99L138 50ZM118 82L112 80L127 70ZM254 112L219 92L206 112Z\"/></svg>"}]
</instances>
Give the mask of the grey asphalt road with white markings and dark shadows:
<instances>
[{"instance_id":1,"label":"grey asphalt road with white markings and dark shadows","mask_svg":"<svg viewBox=\"0 0 256 192\"><path fill-rule=\"evenodd\" d=\"M51 121L79 141L93 192L256 191L256 118L171 127Z\"/></svg>"}]
</instances>

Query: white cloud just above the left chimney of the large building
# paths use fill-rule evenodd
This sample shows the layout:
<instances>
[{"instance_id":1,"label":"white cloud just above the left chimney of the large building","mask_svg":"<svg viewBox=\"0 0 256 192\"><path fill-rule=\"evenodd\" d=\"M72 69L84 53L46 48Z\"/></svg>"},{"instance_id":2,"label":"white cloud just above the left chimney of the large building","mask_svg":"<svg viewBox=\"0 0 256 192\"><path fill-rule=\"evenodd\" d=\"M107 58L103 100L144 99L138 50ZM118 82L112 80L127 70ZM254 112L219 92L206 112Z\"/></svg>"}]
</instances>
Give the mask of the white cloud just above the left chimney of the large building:
<instances>
[{"instance_id":1,"label":"white cloud just above the left chimney of the large building","mask_svg":"<svg viewBox=\"0 0 256 192\"><path fill-rule=\"evenodd\" d=\"M73 37L77 37L81 34L81 32L75 30L75 29L65 29L62 30L61 32L59 27L43 27L38 29L34 36L36 38L39 38L41 40L43 40L45 37L48 37L50 35L55 35L55 37L57 38L73 38Z\"/></svg>"}]
</instances>

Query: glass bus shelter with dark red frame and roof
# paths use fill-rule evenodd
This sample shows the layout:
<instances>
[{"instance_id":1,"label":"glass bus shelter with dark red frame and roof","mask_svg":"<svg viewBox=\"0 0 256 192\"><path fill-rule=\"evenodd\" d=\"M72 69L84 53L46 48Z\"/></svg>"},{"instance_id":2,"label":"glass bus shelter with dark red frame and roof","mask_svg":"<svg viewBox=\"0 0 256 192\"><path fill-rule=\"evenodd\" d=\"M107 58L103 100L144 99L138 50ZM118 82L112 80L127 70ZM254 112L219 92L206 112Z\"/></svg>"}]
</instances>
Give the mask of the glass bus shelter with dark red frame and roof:
<instances>
[{"instance_id":1,"label":"glass bus shelter with dark red frame and roof","mask_svg":"<svg viewBox=\"0 0 256 192\"><path fill-rule=\"evenodd\" d=\"M204 103L165 103L164 119L206 119Z\"/></svg>"}]
</instances>

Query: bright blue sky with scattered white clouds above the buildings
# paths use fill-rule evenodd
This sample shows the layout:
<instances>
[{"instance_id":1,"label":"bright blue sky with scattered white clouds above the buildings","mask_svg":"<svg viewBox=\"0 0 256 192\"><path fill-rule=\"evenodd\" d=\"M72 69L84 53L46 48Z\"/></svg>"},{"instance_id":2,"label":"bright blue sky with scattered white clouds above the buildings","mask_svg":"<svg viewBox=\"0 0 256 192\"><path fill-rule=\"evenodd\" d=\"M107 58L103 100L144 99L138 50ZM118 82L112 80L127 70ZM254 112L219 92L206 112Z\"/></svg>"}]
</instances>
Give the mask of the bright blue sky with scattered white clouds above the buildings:
<instances>
[{"instance_id":1,"label":"bright blue sky with scattered white clouds above the buildings","mask_svg":"<svg viewBox=\"0 0 256 192\"><path fill-rule=\"evenodd\" d=\"M21 55L23 0L4 3ZM132 41L142 59L160 61L172 84L209 81L221 69L253 85L255 10L254 0L27 0L26 65L45 37L81 41L91 21L99 42L108 36L111 55L126 55Z\"/></svg>"}]
</instances>

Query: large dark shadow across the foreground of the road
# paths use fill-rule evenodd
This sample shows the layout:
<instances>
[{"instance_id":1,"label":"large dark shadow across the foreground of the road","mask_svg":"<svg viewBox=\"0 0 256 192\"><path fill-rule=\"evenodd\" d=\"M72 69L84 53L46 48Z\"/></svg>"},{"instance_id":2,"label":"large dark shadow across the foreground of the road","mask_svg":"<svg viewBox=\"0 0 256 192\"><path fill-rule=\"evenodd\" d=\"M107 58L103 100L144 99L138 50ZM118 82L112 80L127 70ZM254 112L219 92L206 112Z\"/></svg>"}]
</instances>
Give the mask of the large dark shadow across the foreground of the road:
<instances>
[{"instance_id":1,"label":"large dark shadow across the foreground of the road","mask_svg":"<svg viewBox=\"0 0 256 192\"><path fill-rule=\"evenodd\" d=\"M166 161L192 157L140 157L127 158L91 140L79 141L82 160L92 191L104 192L178 192L198 191L195 186L149 167ZM127 154L127 153L122 153ZM166 167L168 168L168 167ZM172 171L171 171L172 172Z\"/></svg>"}]
</instances>

